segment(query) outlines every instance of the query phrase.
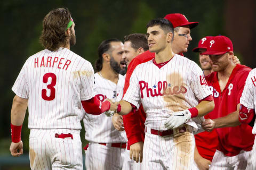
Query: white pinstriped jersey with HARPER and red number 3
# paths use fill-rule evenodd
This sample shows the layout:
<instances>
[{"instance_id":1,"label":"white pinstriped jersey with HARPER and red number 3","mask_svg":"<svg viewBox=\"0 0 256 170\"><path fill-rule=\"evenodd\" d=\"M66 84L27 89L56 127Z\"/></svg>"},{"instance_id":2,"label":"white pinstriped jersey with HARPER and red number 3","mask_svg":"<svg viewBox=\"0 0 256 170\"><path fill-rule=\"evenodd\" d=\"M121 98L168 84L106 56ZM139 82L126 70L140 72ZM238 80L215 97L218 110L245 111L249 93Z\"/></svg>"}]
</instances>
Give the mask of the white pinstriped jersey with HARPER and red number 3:
<instances>
[{"instance_id":1,"label":"white pinstriped jersey with HARPER and red number 3","mask_svg":"<svg viewBox=\"0 0 256 170\"><path fill-rule=\"evenodd\" d=\"M28 98L29 129L81 129L81 100L95 96L90 62L59 48L30 56L12 87Z\"/></svg>"}]
</instances>

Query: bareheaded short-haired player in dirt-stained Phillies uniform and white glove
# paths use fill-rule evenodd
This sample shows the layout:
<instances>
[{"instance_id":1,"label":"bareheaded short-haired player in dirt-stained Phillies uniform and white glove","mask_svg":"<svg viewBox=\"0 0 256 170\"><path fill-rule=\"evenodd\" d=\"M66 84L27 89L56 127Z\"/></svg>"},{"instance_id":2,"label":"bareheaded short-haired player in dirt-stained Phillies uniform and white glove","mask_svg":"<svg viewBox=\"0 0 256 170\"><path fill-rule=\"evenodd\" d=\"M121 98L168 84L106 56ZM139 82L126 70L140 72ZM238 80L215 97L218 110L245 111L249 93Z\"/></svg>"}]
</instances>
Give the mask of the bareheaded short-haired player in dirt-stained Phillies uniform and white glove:
<instances>
[{"instance_id":1,"label":"bareheaded short-haired player in dirt-stained Phillies uniform and white glove","mask_svg":"<svg viewBox=\"0 0 256 170\"><path fill-rule=\"evenodd\" d=\"M191 169L193 127L197 128L191 117L197 119L214 108L209 87L200 83L202 70L195 62L172 52L173 32L172 24L165 19L147 24L149 50L156 56L135 68L116 108L122 115L140 104L145 109L143 169Z\"/></svg>"}]
</instances>

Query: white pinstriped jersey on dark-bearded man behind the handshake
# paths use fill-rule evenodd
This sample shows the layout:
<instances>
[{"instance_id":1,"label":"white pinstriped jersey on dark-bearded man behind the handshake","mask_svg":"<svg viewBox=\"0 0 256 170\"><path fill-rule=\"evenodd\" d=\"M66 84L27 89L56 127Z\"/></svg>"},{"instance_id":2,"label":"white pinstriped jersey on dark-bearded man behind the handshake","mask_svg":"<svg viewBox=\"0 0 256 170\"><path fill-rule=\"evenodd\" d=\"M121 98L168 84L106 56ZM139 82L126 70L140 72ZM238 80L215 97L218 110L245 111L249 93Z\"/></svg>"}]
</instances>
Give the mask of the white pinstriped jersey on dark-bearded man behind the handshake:
<instances>
[{"instance_id":1,"label":"white pinstriped jersey on dark-bearded man behind the handshake","mask_svg":"<svg viewBox=\"0 0 256 170\"><path fill-rule=\"evenodd\" d=\"M119 80L116 83L101 77L99 73L95 73L95 88L97 96L103 101L106 98L120 101L123 97L124 76L119 74ZM126 142L125 131L119 132L115 129L112 117L105 114L90 115L85 114L84 128L86 131L85 139L90 142L97 143L119 143Z\"/></svg>"}]
</instances>

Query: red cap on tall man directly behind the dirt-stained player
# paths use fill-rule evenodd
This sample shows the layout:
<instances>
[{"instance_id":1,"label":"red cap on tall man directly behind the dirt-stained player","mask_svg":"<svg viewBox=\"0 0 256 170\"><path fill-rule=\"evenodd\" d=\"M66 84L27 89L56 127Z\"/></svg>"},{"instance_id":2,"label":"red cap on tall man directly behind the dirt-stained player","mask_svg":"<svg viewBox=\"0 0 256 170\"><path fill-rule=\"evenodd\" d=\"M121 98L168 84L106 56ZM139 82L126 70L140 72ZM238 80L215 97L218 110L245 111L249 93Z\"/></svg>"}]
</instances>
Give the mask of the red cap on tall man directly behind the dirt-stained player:
<instances>
[{"instance_id":1,"label":"red cap on tall man directly behind the dirt-stained player","mask_svg":"<svg viewBox=\"0 0 256 170\"><path fill-rule=\"evenodd\" d=\"M189 25L189 28L192 29L196 27L196 25L198 25L199 23L199 22L188 22L188 19L186 18L186 16L179 13L167 14L166 16L164 16L164 18L169 20L172 23L173 28Z\"/></svg>"}]
</instances>

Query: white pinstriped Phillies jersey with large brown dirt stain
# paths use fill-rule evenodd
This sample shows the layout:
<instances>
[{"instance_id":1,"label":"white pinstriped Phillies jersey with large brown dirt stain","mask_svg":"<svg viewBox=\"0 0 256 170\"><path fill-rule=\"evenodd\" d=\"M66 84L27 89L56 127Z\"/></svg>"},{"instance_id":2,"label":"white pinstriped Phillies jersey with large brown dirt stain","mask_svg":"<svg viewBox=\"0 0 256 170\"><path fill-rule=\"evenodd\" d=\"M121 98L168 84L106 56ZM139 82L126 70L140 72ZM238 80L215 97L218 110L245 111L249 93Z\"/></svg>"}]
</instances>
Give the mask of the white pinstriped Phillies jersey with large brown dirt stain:
<instances>
[{"instance_id":1,"label":"white pinstriped Phillies jersey with large brown dirt stain","mask_svg":"<svg viewBox=\"0 0 256 170\"><path fill-rule=\"evenodd\" d=\"M142 104L147 114L146 126L167 130L164 126L167 117L197 106L198 100L212 92L200 67L188 58L176 54L161 69L153 60L135 68L123 99L137 108ZM192 120L187 124L197 128Z\"/></svg>"}]
</instances>

